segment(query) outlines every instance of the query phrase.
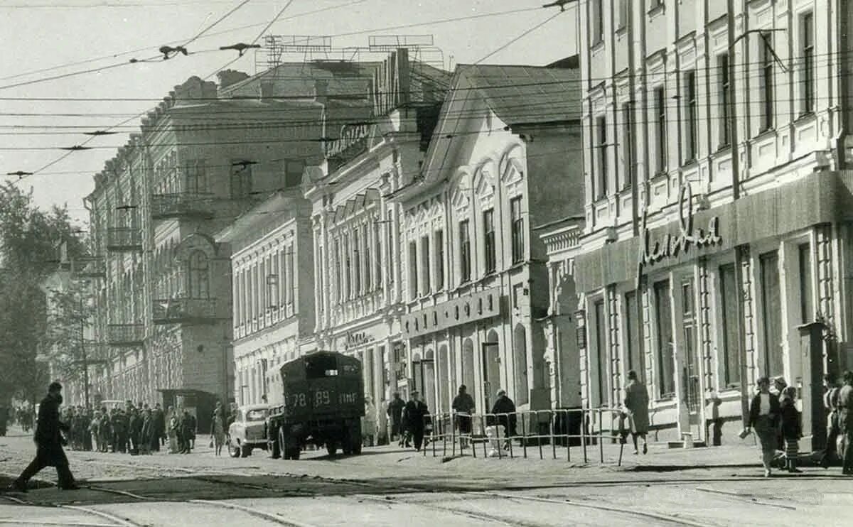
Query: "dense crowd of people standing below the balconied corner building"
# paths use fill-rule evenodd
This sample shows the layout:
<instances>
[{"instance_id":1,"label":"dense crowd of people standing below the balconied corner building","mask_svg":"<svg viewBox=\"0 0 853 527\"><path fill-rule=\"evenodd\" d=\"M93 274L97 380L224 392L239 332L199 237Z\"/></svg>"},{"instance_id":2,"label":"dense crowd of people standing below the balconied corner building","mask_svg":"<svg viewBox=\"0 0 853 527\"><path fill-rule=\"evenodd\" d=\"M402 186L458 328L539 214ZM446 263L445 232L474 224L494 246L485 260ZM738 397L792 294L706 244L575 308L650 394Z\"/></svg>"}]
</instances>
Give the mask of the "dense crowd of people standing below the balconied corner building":
<instances>
[{"instance_id":1,"label":"dense crowd of people standing below the balconied corner building","mask_svg":"<svg viewBox=\"0 0 853 527\"><path fill-rule=\"evenodd\" d=\"M160 403L131 401L125 408L63 408L61 421L68 425L67 442L72 450L131 455L168 449L170 454L189 454L194 448L195 416L183 408L164 410Z\"/></svg>"}]
</instances>

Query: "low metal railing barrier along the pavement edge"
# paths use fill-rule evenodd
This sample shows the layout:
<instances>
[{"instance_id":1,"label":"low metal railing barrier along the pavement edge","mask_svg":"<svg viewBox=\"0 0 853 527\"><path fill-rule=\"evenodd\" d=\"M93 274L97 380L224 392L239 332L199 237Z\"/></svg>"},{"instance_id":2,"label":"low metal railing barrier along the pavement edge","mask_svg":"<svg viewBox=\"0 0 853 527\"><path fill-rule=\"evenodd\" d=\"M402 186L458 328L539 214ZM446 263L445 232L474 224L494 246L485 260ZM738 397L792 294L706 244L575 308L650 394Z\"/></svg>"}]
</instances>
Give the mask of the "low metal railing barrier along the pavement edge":
<instances>
[{"instance_id":1,"label":"low metal railing barrier along the pavement edge","mask_svg":"<svg viewBox=\"0 0 853 527\"><path fill-rule=\"evenodd\" d=\"M604 443L618 443L618 466L622 465L624 442L619 433L619 408L574 408L557 410L528 410L508 414L443 413L424 416L427 446L424 455L470 455L478 457L529 457L538 452L545 459L561 458L565 447L566 461L572 460L572 447L581 449L583 462L589 463L589 450L598 450L604 463ZM501 433L501 426L503 432ZM576 430L577 433L573 433ZM560 455L558 456L558 447ZM496 452L496 455L490 455Z\"/></svg>"}]
</instances>

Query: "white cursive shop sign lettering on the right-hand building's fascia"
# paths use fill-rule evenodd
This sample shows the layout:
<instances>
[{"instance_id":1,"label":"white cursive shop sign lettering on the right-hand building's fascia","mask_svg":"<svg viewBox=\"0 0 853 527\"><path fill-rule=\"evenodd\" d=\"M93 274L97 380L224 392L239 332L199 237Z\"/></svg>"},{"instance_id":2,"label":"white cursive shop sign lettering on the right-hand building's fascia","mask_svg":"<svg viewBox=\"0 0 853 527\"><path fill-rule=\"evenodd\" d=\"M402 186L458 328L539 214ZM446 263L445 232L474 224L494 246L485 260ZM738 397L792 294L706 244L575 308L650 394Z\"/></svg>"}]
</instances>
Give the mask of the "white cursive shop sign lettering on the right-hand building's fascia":
<instances>
[{"instance_id":1,"label":"white cursive shop sign lettering on the right-hand building's fascia","mask_svg":"<svg viewBox=\"0 0 853 527\"><path fill-rule=\"evenodd\" d=\"M720 237L720 218L711 217L707 229L693 227L693 191L690 185L684 185L678 195L678 233L667 234L652 241L652 233L647 227L647 210L642 213L640 225L640 260L637 265L637 281L642 269L647 265L661 262L667 258L677 258L679 253L688 252L690 247L708 247L722 241Z\"/></svg>"}]
</instances>

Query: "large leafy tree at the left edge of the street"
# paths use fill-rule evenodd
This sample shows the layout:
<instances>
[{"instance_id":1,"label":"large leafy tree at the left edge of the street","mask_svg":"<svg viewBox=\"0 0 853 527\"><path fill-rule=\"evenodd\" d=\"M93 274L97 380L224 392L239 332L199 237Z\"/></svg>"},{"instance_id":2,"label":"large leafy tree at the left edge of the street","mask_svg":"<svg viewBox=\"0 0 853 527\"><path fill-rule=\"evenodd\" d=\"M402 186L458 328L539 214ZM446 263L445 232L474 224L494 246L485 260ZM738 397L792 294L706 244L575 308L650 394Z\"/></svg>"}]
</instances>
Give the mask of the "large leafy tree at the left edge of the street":
<instances>
[{"instance_id":1,"label":"large leafy tree at the left edge of the street","mask_svg":"<svg viewBox=\"0 0 853 527\"><path fill-rule=\"evenodd\" d=\"M59 266L58 247L84 254L85 240L67 208L38 209L32 192L11 182L0 186L0 400L34 402L45 388L46 371L37 360L44 345L46 298L39 287Z\"/></svg>"}]
</instances>

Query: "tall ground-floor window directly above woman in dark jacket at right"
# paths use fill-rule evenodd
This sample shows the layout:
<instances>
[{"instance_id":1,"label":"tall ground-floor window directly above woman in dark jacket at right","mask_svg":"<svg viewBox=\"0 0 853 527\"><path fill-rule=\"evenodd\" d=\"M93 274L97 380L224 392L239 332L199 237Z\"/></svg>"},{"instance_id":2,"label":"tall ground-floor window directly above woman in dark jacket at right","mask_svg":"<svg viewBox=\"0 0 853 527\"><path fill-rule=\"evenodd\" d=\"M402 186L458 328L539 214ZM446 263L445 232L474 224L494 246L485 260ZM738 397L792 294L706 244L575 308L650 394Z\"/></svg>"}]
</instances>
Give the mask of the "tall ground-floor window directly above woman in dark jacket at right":
<instances>
[{"instance_id":1,"label":"tall ground-floor window directly above woman in dark jacket at right","mask_svg":"<svg viewBox=\"0 0 853 527\"><path fill-rule=\"evenodd\" d=\"M779 255L766 252L758 257L761 271L761 308L763 319L763 374L770 377L785 373L782 362L782 297L779 281Z\"/></svg>"}]
</instances>

